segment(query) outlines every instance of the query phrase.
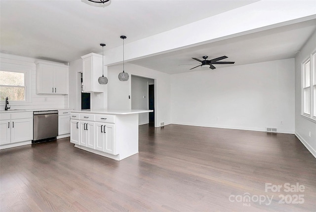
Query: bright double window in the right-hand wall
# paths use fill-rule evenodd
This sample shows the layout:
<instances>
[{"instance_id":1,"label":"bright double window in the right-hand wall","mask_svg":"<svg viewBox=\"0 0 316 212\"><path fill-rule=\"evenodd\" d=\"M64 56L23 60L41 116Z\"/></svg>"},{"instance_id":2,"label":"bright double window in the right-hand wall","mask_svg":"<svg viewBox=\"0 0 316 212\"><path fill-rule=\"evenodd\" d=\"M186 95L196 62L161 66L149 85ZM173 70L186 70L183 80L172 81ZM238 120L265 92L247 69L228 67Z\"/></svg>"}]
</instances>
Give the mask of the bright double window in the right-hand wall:
<instances>
[{"instance_id":1,"label":"bright double window in the right-hand wall","mask_svg":"<svg viewBox=\"0 0 316 212\"><path fill-rule=\"evenodd\" d=\"M302 66L302 114L316 120L316 52Z\"/></svg>"}]
</instances>

